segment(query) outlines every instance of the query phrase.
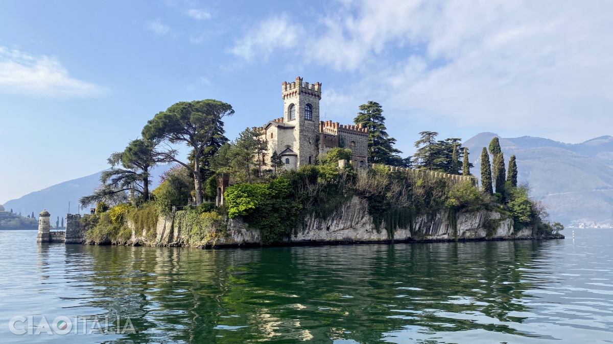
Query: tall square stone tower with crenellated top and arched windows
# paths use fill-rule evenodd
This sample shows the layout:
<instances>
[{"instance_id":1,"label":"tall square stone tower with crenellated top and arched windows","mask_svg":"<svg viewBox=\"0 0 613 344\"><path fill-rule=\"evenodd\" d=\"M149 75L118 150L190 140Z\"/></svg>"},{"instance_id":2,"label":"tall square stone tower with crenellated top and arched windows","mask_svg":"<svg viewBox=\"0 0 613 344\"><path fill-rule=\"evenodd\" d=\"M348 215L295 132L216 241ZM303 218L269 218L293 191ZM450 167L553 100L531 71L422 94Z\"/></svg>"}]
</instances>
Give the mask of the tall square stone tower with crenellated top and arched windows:
<instances>
[{"instance_id":1,"label":"tall square stone tower with crenellated top and arched windows","mask_svg":"<svg viewBox=\"0 0 613 344\"><path fill-rule=\"evenodd\" d=\"M283 122L295 127L291 148L298 155L297 167L315 163L318 154L321 84L309 84L297 77L293 83L283 82L281 94Z\"/></svg>"}]
</instances>

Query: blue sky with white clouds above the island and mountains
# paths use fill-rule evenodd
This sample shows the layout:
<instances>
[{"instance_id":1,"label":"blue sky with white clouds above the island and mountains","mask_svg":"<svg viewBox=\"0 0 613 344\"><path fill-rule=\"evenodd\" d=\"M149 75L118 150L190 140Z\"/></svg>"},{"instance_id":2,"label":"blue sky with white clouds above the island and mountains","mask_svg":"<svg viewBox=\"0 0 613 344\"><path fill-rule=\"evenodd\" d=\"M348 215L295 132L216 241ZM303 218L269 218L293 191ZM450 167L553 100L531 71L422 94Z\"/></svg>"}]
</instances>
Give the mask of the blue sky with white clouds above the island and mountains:
<instances>
[{"instance_id":1,"label":"blue sky with white clouds above the island and mountains","mask_svg":"<svg viewBox=\"0 0 613 344\"><path fill-rule=\"evenodd\" d=\"M579 143L613 135L613 1L0 2L0 204L104 170L175 102L283 116L322 83L321 120L381 103L397 148L423 130Z\"/></svg>"}]
</instances>

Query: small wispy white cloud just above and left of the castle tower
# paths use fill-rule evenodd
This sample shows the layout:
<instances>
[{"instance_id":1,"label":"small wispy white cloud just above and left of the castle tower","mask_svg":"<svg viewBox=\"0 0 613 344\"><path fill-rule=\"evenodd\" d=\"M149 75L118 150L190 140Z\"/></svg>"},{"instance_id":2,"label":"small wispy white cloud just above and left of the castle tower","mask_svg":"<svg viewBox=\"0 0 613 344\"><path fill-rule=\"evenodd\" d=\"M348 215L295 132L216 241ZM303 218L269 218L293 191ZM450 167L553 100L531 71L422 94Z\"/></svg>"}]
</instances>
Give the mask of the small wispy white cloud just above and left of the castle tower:
<instances>
[{"instance_id":1,"label":"small wispy white cloud just above and left of the castle tower","mask_svg":"<svg viewBox=\"0 0 613 344\"><path fill-rule=\"evenodd\" d=\"M270 17L257 23L229 52L248 62L266 60L277 49L295 47L302 31L302 26L291 23L287 15Z\"/></svg>"}]
</instances>

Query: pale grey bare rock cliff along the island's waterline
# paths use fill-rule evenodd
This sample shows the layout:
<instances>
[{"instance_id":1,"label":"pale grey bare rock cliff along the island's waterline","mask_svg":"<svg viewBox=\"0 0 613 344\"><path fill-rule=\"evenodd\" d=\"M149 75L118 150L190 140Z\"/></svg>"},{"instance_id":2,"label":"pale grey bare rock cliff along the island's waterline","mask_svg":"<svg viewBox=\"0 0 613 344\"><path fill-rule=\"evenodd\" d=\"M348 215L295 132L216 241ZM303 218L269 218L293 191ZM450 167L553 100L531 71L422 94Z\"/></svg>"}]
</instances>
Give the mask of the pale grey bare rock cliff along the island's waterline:
<instances>
[{"instance_id":1,"label":"pale grey bare rock cliff along the island's waterline","mask_svg":"<svg viewBox=\"0 0 613 344\"><path fill-rule=\"evenodd\" d=\"M392 238L384 230L377 231L368 214L366 200L354 196L326 219L311 215L289 238L288 244L387 242ZM191 228L180 228L172 215L160 217L155 239L134 233L131 244L185 245L227 247L259 244L259 230L249 228L241 219L229 219L223 233L202 234L194 240ZM563 236L560 236L563 237ZM450 216L447 211L420 215L414 219L414 228L396 228L394 241L451 241L482 239L532 239L530 228L514 231L513 220L498 212L479 211Z\"/></svg>"}]
</instances>

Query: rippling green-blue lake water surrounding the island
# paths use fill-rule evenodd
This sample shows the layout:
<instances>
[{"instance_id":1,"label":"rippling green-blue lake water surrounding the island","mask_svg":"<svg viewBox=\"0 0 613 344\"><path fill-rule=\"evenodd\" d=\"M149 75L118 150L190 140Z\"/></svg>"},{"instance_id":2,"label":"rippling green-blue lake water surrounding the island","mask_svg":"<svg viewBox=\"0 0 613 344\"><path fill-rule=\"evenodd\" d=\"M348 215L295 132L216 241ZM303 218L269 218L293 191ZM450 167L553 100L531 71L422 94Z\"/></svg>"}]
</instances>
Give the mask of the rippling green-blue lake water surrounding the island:
<instances>
[{"instance_id":1,"label":"rippling green-blue lake water surrounding the island","mask_svg":"<svg viewBox=\"0 0 613 344\"><path fill-rule=\"evenodd\" d=\"M565 232L199 250L0 231L0 342L613 343L613 231ZM32 334L9 331L15 316L30 316L13 327ZM34 335L43 316L75 325Z\"/></svg>"}]
</instances>

